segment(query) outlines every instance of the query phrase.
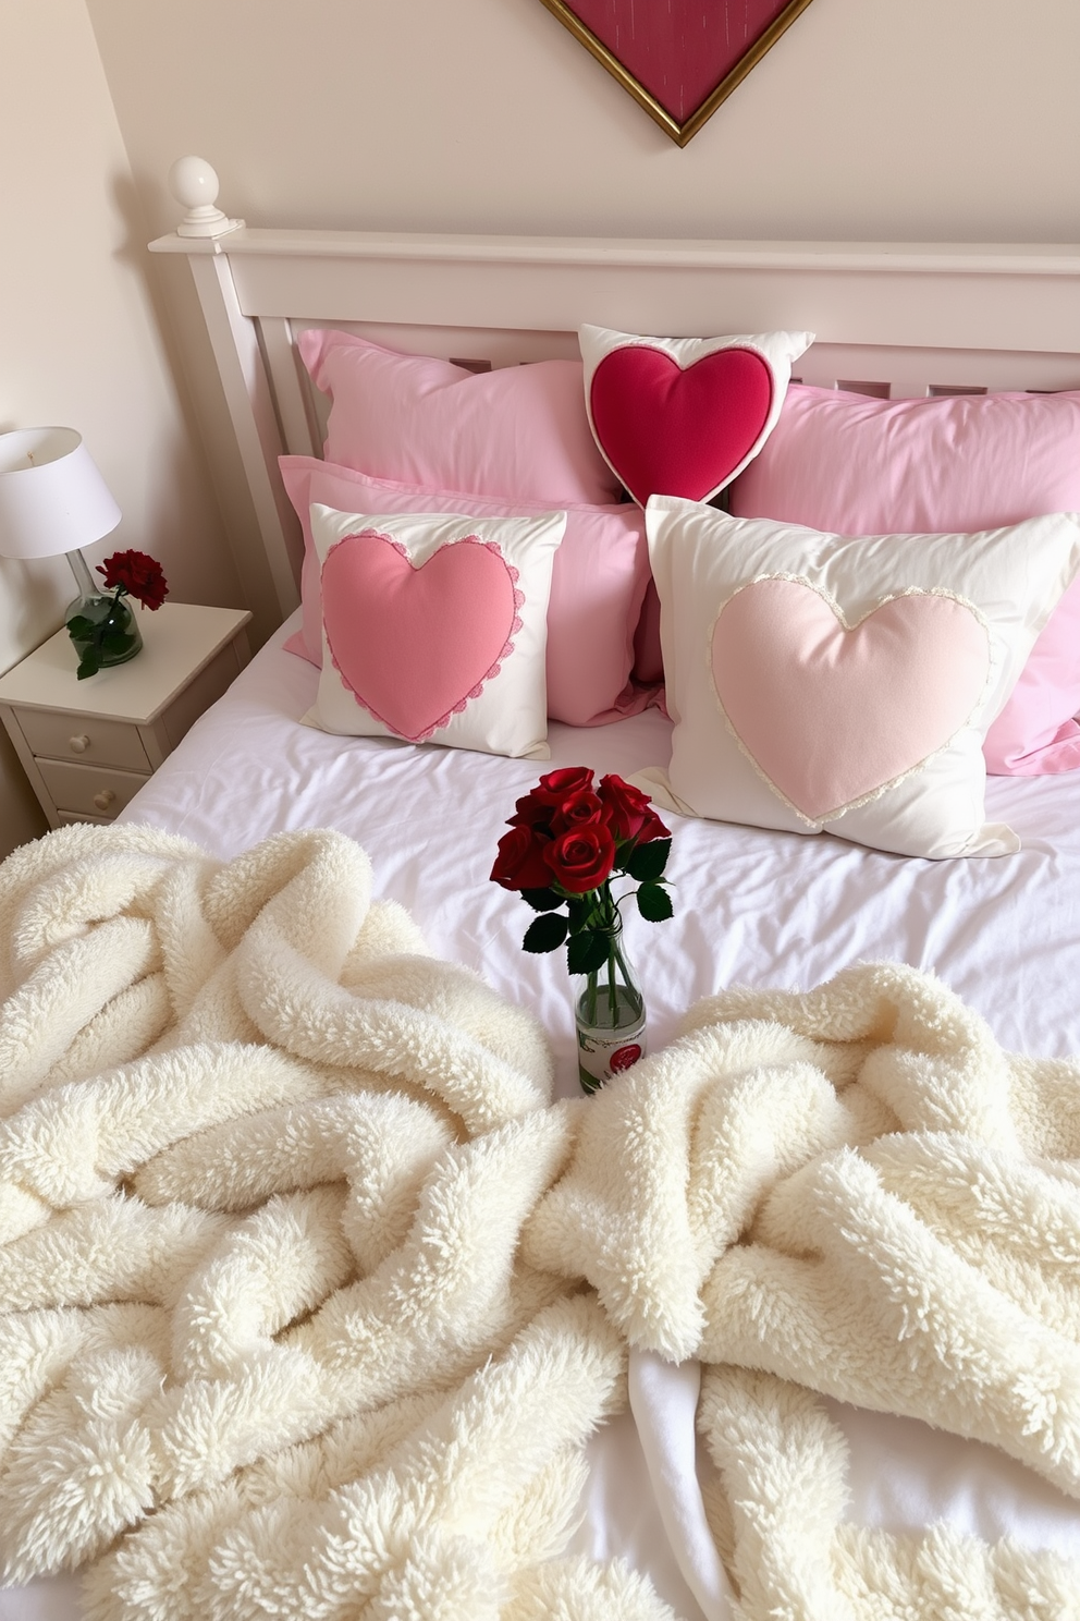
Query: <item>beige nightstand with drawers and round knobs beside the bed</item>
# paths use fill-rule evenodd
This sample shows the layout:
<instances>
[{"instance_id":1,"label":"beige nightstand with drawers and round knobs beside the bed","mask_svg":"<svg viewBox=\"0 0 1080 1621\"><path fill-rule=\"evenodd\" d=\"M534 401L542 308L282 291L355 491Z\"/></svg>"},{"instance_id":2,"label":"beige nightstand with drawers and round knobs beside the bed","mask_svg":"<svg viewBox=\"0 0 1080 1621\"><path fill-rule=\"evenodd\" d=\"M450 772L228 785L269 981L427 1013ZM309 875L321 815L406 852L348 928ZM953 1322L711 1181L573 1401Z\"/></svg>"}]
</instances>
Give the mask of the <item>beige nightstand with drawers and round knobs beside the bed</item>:
<instances>
[{"instance_id":1,"label":"beige nightstand with drawers and round knobs beside the bed","mask_svg":"<svg viewBox=\"0 0 1080 1621\"><path fill-rule=\"evenodd\" d=\"M0 720L50 827L112 822L248 663L236 608L142 613L142 652L78 681L66 629L0 678Z\"/></svg>"}]
</instances>

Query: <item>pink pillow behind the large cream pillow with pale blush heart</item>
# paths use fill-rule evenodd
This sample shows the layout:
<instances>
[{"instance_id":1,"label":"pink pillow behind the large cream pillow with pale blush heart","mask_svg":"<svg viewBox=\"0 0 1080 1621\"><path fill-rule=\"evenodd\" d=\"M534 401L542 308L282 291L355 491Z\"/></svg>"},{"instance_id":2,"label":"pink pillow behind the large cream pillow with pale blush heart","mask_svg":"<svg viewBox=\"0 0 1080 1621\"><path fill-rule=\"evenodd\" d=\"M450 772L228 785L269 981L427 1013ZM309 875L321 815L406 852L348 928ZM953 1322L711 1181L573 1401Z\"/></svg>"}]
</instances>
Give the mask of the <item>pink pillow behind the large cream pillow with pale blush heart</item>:
<instances>
[{"instance_id":1,"label":"pink pillow behind the large cream pillow with pale blush heart","mask_svg":"<svg viewBox=\"0 0 1080 1621\"><path fill-rule=\"evenodd\" d=\"M879 400L793 384L730 507L842 535L970 533L1077 512L1080 394ZM1077 770L1078 710L1080 580L986 734L988 770Z\"/></svg>"}]
</instances>

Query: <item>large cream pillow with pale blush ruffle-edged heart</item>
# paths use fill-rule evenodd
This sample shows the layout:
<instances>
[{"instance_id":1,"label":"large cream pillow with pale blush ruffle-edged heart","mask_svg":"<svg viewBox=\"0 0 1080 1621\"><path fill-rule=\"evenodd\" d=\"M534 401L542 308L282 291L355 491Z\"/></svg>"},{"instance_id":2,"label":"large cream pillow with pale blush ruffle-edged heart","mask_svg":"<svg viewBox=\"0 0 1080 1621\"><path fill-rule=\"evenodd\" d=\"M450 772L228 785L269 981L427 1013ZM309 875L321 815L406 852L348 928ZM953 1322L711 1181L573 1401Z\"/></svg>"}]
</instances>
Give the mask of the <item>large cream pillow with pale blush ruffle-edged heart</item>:
<instances>
[{"instance_id":1,"label":"large cream pillow with pale blush ruffle-edged heart","mask_svg":"<svg viewBox=\"0 0 1080 1621\"><path fill-rule=\"evenodd\" d=\"M1080 571L1074 512L978 535L840 537L656 496L669 809L1002 856L983 738Z\"/></svg>"}]
</instances>

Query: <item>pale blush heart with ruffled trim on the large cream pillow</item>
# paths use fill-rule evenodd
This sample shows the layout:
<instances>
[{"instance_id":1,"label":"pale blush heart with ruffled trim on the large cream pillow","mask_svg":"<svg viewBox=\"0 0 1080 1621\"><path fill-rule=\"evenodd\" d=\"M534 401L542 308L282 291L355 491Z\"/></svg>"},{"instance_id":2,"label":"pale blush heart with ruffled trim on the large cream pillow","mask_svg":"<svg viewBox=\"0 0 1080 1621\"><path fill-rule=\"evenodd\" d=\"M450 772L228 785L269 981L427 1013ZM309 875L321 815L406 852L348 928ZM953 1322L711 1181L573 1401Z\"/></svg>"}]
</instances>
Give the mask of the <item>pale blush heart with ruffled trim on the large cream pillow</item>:
<instances>
[{"instance_id":1,"label":"pale blush heart with ruffled trim on the large cream pillow","mask_svg":"<svg viewBox=\"0 0 1080 1621\"><path fill-rule=\"evenodd\" d=\"M989 644L955 597L894 597L850 629L808 582L751 580L712 627L724 712L808 822L874 798L936 754L986 689Z\"/></svg>"}]
</instances>

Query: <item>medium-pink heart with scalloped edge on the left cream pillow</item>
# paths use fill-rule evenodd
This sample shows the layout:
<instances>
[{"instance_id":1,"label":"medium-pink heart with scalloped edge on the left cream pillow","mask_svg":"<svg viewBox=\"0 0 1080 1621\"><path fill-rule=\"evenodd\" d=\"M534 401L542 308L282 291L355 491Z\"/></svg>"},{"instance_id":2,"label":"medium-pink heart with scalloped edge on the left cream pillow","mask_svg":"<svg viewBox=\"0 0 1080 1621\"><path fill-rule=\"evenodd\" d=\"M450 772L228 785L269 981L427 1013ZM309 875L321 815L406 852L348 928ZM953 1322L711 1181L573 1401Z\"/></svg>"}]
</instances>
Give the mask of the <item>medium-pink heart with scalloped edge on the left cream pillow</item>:
<instances>
[{"instance_id":1,"label":"medium-pink heart with scalloped edge on the left cream pillow","mask_svg":"<svg viewBox=\"0 0 1080 1621\"><path fill-rule=\"evenodd\" d=\"M419 567L389 535L347 535L322 564L322 619L345 686L390 731L411 742L431 736L513 652L517 577L476 535Z\"/></svg>"}]
</instances>

